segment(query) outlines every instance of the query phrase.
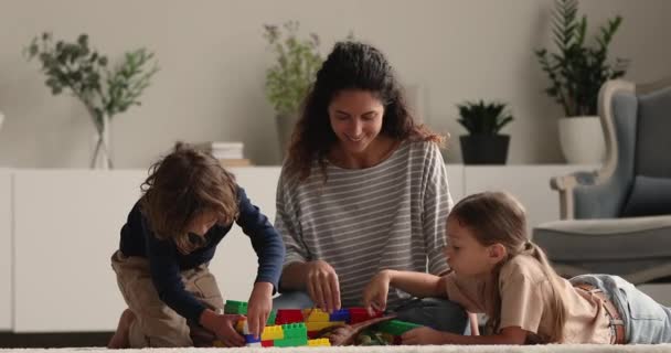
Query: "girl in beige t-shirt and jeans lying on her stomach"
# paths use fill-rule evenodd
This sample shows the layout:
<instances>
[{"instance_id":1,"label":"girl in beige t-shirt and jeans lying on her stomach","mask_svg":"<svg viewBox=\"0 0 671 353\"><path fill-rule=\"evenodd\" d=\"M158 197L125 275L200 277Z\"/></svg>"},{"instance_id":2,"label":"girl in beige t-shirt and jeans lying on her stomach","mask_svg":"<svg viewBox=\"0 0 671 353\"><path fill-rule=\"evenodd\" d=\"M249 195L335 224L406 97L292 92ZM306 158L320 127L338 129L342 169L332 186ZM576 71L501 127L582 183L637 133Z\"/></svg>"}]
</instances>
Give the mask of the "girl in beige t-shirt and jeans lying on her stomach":
<instances>
[{"instance_id":1,"label":"girl in beige t-shirt and jeans lying on her stomach","mask_svg":"<svg viewBox=\"0 0 671 353\"><path fill-rule=\"evenodd\" d=\"M525 229L524 210L511 195L470 195L447 221L445 255L454 271L437 277L383 270L368 285L364 303L384 309L393 286L419 297L447 293L467 311L489 318L490 335L420 328L403 335L405 344L671 342L671 309L620 277L561 278Z\"/></svg>"}]
</instances>

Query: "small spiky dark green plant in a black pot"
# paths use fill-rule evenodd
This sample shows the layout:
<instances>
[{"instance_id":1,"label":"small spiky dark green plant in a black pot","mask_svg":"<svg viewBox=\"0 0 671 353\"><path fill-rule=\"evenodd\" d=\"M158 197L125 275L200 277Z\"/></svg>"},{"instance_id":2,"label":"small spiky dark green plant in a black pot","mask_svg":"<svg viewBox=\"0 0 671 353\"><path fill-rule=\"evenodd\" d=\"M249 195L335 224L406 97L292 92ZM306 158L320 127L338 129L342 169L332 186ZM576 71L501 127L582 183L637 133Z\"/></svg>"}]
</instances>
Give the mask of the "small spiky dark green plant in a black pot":
<instances>
[{"instance_id":1,"label":"small spiky dark green plant in a black pot","mask_svg":"<svg viewBox=\"0 0 671 353\"><path fill-rule=\"evenodd\" d=\"M510 136L501 129L513 120L503 103L466 101L457 105L457 120L469 135L459 137L466 164L505 164Z\"/></svg>"}]
</instances>

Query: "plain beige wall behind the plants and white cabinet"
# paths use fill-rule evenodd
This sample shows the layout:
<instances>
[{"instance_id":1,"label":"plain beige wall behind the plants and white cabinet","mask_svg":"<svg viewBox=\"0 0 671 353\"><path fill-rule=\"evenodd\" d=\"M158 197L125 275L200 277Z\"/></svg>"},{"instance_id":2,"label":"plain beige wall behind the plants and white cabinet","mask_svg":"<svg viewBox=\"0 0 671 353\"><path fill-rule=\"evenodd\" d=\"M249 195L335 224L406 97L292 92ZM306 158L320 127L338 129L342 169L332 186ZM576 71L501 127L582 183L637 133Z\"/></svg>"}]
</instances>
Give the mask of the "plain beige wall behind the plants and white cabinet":
<instances>
[{"instance_id":1,"label":"plain beige wall behind the plants and white cabinet","mask_svg":"<svg viewBox=\"0 0 671 353\"><path fill-rule=\"evenodd\" d=\"M116 165L146 168L174 140L242 140L257 164L278 162L273 109L264 72L271 62L263 23L299 20L323 40L322 52L353 30L382 49L406 83L423 87L425 121L456 137L455 104L502 99L518 118L511 163L562 162L555 120L560 109L533 50L551 43L551 0L247 0L0 2L0 165L86 167L93 129L79 103L52 97L21 49L50 30L73 40L86 32L102 52L146 45L161 72L143 105L117 117ZM671 75L668 0L582 1L590 28L616 13L625 18L614 56L632 60L637 82ZM114 56L114 55L113 55ZM459 161L458 143L448 152Z\"/></svg>"}]
</instances>

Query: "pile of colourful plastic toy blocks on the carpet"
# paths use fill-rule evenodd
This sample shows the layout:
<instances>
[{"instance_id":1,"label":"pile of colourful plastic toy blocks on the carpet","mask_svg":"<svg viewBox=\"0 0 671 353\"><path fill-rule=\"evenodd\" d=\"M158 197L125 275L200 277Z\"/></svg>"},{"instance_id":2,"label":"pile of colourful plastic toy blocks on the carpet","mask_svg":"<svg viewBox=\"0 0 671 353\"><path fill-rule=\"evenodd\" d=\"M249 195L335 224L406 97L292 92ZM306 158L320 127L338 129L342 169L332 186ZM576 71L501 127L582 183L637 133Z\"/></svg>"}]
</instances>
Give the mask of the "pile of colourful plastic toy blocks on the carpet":
<instances>
[{"instance_id":1,"label":"pile of colourful plastic toy blocks on the carpet","mask_svg":"<svg viewBox=\"0 0 671 353\"><path fill-rule=\"evenodd\" d=\"M227 300L224 313L247 314L247 303ZM259 339L249 334L246 320L237 322L236 330L245 336L248 346L329 346L328 339L320 339L320 331L343 324L353 324L380 317L370 315L364 308L349 308L324 312L320 309L280 309L273 311ZM380 323L376 331L384 336L386 344L400 344L401 335L419 325L400 320ZM215 342L215 345L221 343Z\"/></svg>"}]
</instances>

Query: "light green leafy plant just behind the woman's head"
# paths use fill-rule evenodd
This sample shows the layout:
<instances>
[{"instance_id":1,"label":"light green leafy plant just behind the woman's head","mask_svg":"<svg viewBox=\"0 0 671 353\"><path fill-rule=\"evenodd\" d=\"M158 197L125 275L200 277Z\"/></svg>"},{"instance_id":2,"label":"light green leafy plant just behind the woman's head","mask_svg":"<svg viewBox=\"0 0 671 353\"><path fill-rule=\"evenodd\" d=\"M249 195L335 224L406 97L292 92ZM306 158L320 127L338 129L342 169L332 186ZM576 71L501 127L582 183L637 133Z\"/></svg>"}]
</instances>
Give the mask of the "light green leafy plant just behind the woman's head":
<instances>
[{"instance_id":1,"label":"light green leafy plant just behind the woman's head","mask_svg":"<svg viewBox=\"0 0 671 353\"><path fill-rule=\"evenodd\" d=\"M266 96L278 115L296 114L323 61L319 36L310 33L309 39L299 39L297 21L281 28L265 24L264 30L277 60L266 72Z\"/></svg>"}]
</instances>

